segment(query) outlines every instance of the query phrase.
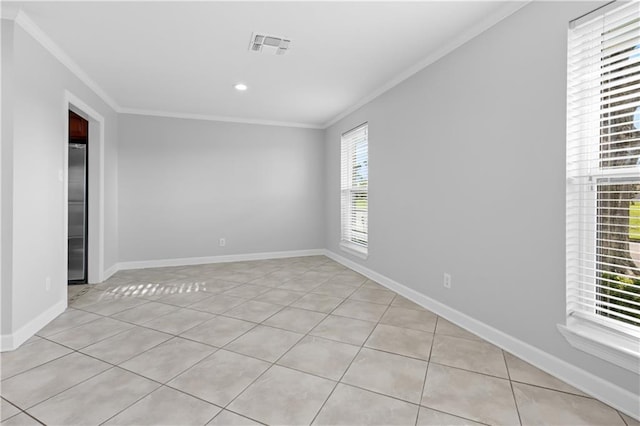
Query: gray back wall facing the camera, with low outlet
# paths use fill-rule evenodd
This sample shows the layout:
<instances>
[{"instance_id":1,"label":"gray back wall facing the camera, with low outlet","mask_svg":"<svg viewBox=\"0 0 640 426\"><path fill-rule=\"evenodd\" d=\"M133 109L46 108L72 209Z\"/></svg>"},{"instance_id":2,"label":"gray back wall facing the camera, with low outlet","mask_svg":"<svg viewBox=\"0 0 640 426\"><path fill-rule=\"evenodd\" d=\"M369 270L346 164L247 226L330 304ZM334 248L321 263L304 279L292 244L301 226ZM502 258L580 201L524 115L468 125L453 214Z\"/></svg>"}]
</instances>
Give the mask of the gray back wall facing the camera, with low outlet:
<instances>
[{"instance_id":1,"label":"gray back wall facing the camera, with low outlet","mask_svg":"<svg viewBox=\"0 0 640 426\"><path fill-rule=\"evenodd\" d=\"M121 262L323 247L323 131L138 115L119 128Z\"/></svg>"}]
</instances>

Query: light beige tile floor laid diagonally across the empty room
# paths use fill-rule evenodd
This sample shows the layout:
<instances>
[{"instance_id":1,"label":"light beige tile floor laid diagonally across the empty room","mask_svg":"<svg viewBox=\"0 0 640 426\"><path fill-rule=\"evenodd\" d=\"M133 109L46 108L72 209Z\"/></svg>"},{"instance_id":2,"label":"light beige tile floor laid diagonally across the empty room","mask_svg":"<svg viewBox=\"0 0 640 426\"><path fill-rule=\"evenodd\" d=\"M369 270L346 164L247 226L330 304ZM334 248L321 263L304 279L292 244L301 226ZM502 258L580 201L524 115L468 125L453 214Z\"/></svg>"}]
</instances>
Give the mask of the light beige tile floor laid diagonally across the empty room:
<instances>
[{"instance_id":1,"label":"light beige tile floor laid diagonally across the empty room","mask_svg":"<svg viewBox=\"0 0 640 426\"><path fill-rule=\"evenodd\" d=\"M640 424L322 256L71 286L0 371L3 425Z\"/></svg>"}]
</instances>

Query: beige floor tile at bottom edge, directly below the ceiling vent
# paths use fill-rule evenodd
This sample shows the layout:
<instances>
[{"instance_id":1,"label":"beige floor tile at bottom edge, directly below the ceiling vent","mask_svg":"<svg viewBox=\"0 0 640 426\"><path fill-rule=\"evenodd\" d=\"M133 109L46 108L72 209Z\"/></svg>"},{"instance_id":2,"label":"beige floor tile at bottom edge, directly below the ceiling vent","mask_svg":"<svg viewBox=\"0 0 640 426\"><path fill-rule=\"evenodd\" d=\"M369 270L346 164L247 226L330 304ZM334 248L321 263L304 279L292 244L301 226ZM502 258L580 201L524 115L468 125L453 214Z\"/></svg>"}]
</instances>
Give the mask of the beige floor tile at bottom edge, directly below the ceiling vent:
<instances>
[{"instance_id":1,"label":"beige floor tile at bottom edge, directly below the ceiling vent","mask_svg":"<svg viewBox=\"0 0 640 426\"><path fill-rule=\"evenodd\" d=\"M229 409L267 424L310 424L334 386L330 380L273 366Z\"/></svg>"}]
</instances>

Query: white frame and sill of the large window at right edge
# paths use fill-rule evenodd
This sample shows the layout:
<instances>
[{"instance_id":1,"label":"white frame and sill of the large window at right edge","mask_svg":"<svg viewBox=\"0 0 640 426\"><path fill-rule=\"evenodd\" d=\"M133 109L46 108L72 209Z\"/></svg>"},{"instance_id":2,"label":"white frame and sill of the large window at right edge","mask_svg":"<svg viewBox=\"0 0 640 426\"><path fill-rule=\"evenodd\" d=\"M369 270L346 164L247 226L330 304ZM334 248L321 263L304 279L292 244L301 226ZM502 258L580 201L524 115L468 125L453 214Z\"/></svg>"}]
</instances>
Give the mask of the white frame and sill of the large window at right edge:
<instances>
[{"instance_id":1,"label":"white frame and sill of the large window at right edge","mask_svg":"<svg viewBox=\"0 0 640 426\"><path fill-rule=\"evenodd\" d=\"M576 21L571 22L569 38L571 30L584 22L594 19L601 19L607 13L617 11L620 4L613 3L606 5L596 11L587 14ZM571 48L571 44L569 45ZM571 59L571 58L569 58ZM602 59L591 67L596 70L600 67ZM594 72L592 68L581 73L588 74ZM571 65L568 64L567 77L568 80L573 72ZM599 71L595 71L599 73ZM592 77L581 78L590 79ZM600 78L600 77L598 77ZM589 80L591 81L591 80ZM621 321L607 318L605 316L594 315L597 308L597 301L594 296L596 291L597 278L593 277L593 282L582 282L577 277L582 275L584 270L597 269L597 238L598 238L598 219L597 219L597 197L599 184L608 184L615 182L617 179L637 178L637 167L624 167L619 169L609 169L602 166L600 158L601 135L599 123L602 120L600 110L593 108L585 115L586 120L582 119L579 124L581 137L589 142L586 144L575 144L570 137L571 125L570 117L572 117L571 97L567 95L567 201L566 201L566 323L559 324L558 330L565 339L573 347L597 356L603 360L609 361L622 368L637 372L640 369L640 327L625 324ZM594 85L595 96L601 96L599 85ZM586 123L586 125L585 125ZM594 125L593 123L598 123ZM579 156L585 160L586 166L582 168L571 164L570 150L580 148ZM595 148L595 149L594 149ZM573 153L575 155L575 152ZM588 173L584 173L588 170ZM577 173L576 173L577 172ZM576 202L576 198L579 200ZM595 210L595 211L594 211ZM577 217L577 219L576 219ZM574 226L574 221L586 224L584 229ZM576 249L576 247L578 247ZM585 260L583 256L576 256L578 253L593 253L593 257ZM577 283L577 284L576 284ZM572 306L572 300L575 296L572 292L577 292L581 297L593 298L593 310L584 312ZM587 296L588 295L588 296ZM584 312L584 313L583 313Z\"/></svg>"}]
</instances>

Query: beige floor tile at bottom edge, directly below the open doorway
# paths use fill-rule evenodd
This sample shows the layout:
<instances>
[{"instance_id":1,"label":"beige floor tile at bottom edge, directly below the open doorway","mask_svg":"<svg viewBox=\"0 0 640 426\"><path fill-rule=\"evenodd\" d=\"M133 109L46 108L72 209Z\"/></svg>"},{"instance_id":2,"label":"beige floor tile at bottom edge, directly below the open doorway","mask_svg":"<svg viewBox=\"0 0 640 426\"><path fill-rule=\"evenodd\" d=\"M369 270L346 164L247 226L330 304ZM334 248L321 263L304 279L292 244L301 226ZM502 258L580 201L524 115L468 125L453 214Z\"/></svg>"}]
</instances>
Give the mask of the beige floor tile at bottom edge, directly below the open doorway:
<instances>
[{"instance_id":1,"label":"beige floor tile at bottom edge, directly below the open doorway","mask_svg":"<svg viewBox=\"0 0 640 426\"><path fill-rule=\"evenodd\" d=\"M45 424L99 424L159 385L114 367L28 410Z\"/></svg>"}]
</instances>

